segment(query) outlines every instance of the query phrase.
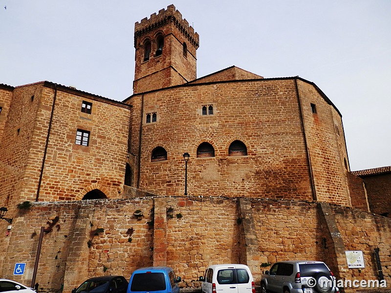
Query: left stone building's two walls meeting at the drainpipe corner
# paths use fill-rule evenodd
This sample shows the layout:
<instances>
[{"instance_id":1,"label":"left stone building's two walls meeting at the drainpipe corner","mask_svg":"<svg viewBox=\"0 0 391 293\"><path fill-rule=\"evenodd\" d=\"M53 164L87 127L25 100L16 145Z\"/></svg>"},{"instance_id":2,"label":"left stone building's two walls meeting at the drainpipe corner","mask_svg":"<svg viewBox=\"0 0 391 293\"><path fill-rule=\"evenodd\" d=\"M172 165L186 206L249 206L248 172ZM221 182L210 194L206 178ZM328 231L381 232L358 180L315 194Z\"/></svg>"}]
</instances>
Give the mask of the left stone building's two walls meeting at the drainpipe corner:
<instances>
[{"instance_id":1,"label":"left stone building's two walls meeting at the drainpipe corner","mask_svg":"<svg viewBox=\"0 0 391 293\"><path fill-rule=\"evenodd\" d=\"M2 205L80 200L94 189L121 197L130 107L56 86L42 82L13 92L0 141ZM81 111L83 101L92 103L91 114ZM90 132L88 146L75 144L78 129Z\"/></svg>"}]
</instances>

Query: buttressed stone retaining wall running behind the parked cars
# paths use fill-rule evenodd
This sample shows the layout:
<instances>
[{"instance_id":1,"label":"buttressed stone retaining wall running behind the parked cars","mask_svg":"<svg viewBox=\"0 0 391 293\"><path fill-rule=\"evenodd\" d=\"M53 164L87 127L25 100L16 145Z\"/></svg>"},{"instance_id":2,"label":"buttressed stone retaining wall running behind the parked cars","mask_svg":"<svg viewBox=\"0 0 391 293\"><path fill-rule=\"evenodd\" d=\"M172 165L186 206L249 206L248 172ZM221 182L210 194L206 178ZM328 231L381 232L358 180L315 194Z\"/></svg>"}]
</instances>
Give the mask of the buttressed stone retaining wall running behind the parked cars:
<instances>
[{"instance_id":1,"label":"buttressed stone retaining wall running behind the parked cars","mask_svg":"<svg viewBox=\"0 0 391 293\"><path fill-rule=\"evenodd\" d=\"M31 282L44 227L36 278L40 292L60 293L62 284L69 292L95 275L129 279L136 268L158 262L174 268L182 287L198 287L197 277L211 264L237 262L250 262L259 285L268 263L287 259L325 261L338 278L377 279L373 248L380 249L383 273L391 282L391 220L321 205L327 204L222 197L38 203L20 210L9 236L0 238L0 273ZM246 209L252 212L242 213ZM248 242L251 225L253 244ZM342 250L336 248L336 234ZM348 269L345 250L363 251L366 267ZM22 276L12 275L17 262L26 263Z\"/></svg>"}]
</instances>

